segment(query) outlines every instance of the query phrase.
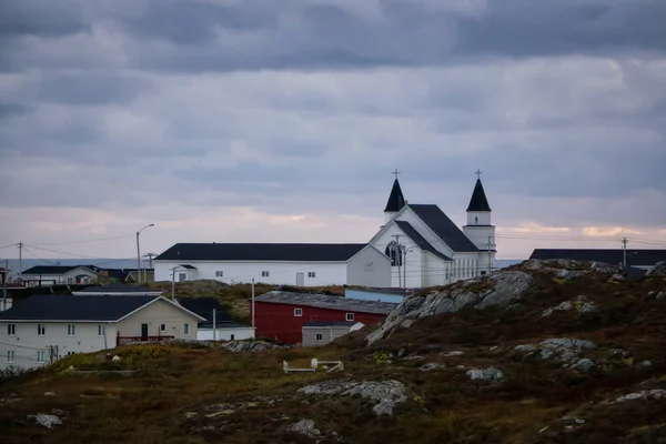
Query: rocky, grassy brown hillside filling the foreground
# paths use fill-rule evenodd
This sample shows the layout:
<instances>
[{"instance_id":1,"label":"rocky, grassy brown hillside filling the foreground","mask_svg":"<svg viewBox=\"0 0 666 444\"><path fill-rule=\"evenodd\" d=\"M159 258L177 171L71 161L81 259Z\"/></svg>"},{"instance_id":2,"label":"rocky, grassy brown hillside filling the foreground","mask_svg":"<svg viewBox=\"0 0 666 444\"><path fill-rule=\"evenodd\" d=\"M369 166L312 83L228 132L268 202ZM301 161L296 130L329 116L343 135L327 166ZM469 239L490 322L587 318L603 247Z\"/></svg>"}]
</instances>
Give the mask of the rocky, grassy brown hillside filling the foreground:
<instances>
[{"instance_id":1,"label":"rocky, grassy brown hillside filling the foreground","mask_svg":"<svg viewBox=\"0 0 666 444\"><path fill-rule=\"evenodd\" d=\"M628 281L603 264L529 261L423 291L373 331L320 350L255 341L122 347L115 363L69 356L0 386L0 435L8 443L665 442L665 309L662 274ZM315 356L342 360L343 370L282 370ZM137 372L77 373L121 369Z\"/></svg>"}]
</instances>

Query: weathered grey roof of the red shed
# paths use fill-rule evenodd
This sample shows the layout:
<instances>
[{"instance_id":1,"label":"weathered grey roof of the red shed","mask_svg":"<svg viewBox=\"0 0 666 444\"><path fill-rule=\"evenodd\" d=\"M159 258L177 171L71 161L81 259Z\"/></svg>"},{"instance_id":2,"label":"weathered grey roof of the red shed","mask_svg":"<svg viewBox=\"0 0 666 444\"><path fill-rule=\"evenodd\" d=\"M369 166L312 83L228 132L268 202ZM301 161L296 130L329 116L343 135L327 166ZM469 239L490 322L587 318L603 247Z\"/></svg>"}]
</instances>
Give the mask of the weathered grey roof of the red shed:
<instances>
[{"instance_id":1,"label":"weathered grey roof of the red shed","mask_svg":"<svg viewBox=\"0 0 666 444\"><path fill-rule=\"evenodd\" d=\"M255 302L314 306L317 309L340 310L355 313L389 314L397 304L391 302L364 301L325 294L290 293L272 291L254 299Z\"/></svg>"}]
</instances>

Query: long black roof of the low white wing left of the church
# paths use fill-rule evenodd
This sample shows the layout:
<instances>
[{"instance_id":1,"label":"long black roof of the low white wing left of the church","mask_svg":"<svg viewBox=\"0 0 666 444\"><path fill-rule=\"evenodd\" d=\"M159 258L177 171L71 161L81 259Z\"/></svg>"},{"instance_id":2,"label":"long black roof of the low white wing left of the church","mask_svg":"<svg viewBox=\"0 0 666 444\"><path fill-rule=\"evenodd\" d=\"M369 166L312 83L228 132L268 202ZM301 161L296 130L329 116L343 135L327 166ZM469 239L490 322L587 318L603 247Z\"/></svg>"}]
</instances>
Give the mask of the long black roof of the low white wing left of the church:
<instances>
[{"instance_id":1,"label":"long black roof of the low white wing left of the church","mask_svg":"<svg viewBox=\"0 0 666 444\"><path fill-rule=\"evenodd\" d=\"M157 261L344 262L364 243L176 243Z\"/></svg>"}]
</instances>

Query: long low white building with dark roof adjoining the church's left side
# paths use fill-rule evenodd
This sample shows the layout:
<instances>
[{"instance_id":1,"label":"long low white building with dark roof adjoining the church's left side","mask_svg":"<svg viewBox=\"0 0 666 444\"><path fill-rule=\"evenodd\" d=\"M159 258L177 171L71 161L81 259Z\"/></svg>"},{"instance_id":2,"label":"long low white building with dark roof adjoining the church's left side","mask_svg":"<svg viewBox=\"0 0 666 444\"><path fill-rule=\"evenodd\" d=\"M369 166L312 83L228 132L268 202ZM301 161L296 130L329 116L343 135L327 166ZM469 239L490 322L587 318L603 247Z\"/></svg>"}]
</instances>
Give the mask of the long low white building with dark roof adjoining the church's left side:
<instances>
[{"instance_id":1,"label":"long low white building with dark roof adjoining the church's left side","mask_svg":"<svg viewBox=\"0 0 666 444\"><path fill-rule=\"evenodd\" d=\"M372 245L315 243L176 243L155 258L155 281L389 286L389 258ZM174 273L172 275L172 273Z\"/></svg>"}]
</instances>

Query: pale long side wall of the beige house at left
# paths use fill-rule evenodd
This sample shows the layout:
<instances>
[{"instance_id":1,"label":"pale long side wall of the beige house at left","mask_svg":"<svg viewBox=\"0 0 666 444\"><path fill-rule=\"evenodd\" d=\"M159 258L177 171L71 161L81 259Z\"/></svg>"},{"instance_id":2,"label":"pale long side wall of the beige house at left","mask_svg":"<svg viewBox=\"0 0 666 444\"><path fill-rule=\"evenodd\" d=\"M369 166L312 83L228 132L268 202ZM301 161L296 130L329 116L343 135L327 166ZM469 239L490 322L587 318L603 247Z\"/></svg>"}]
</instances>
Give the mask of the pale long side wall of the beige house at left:
<instances>
[{"instance_id":1,"label":"pale long side wall of the beige house at left","mask_svg":"<svg viewBox=\"0 0 666 444\"><path fill-rule=\"evenodd\" d=\"M50 346L58 346L59 357L68 353L91 353L115 347L115 325L109 323L88 322L16 322L16 335L8 335L7 324L0 323L0 369L8 365L34 367L43 364L37 362L38 352L44 352L49 363ZM44 325L44 335L38 335L38 324ZM74 335L68 335L68 325L74 325ZM99 325L104 325L104 336L100 336ZM7 362L7 352L14 352L14 363Z\"/></svg>"}]
</instances>

